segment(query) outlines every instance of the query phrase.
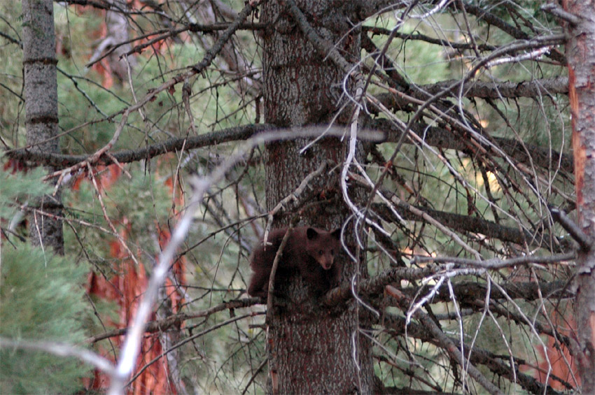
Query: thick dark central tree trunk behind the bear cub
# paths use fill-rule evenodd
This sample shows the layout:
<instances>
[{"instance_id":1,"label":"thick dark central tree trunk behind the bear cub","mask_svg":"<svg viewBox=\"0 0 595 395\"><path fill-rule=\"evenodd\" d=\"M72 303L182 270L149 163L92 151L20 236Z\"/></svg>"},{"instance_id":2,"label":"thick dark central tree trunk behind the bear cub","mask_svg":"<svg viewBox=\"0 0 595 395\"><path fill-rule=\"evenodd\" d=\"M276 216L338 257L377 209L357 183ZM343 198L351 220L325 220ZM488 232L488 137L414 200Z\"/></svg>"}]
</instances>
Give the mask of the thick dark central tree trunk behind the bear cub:
<instances>
[{"instance_id":1,"label":"thick dark central tree trunk behind the bear cub","mask_svg":"<svg viewBox=\"0 0 595 395\"><path fill-rule=\"evenodd\" d=\"M297 1L297 5L318 35L333 43L342 38L339 50L358 59L359 36L349 31L346 23L337 22L347 18L337 15L341 11L336 4L303 0ZM330 21L335 21L333 30L328 29ZM279 127L328 124L339 108L337 101L342 93L344 73L330 60L318 55L290 16L285 2L265 2L262 22L271 27L265 31L262 42L266 122ZM352 109L348 106L337 118L337 123L349 122ZM330 159L340 165L346 157L346 145L337 138L325 138L300 155L298 151L305 143L302 139L267 145L265 166L269 210L291 194L322 161ZM300 224L327 230L341 226L349 211L343 204L337 175L323 173L311 182L311 187L321 192L320 201L324 198L330 202L311 204L314 201L309 201L309 208L300 213ZM354 193L352 198L356 199L356 195ZM274 227L287 224L296 214L290 213L276 220ZM346 233L346 240L352 242L353 235L349 231ZM351 250L356 250L353 243ZM339 263L344 265L343 280L356 271L356 264L344 254L339 257ZM358 331L360 315L363 315L358 306L348 303L332 311L319 306L299 276L281 287L287 303L274 308L268 322L269 385L272 385L269 392L370 393L373 378L371 347Z\"/></svg>"}]
</instances>

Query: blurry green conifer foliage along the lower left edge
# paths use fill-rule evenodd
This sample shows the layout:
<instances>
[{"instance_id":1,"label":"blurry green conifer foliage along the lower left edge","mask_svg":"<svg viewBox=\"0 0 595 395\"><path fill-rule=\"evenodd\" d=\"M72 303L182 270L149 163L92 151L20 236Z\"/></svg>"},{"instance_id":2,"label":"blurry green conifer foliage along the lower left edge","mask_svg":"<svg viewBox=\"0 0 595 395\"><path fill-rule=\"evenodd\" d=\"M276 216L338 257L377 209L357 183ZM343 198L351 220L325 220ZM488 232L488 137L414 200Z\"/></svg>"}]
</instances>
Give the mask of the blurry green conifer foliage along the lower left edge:
<instances>
[{"instance_id":1,"label":"blurry green conifer foliage along the lower left edge","mask_svg":"<svg viewBox=\"0 0 595 395\"><path fill-rule=\"evenodd\" d=\"M38 172L0 173L4 220L32 194L46 192ZM83 346L84 319L89 317L83 299L87 268L13 237L2 240L0 262L0 336ZM0 394L78 392L83 389L81 378L89 372L89 366L73 358L0 347Z\"/></svg>"}]
</instances>

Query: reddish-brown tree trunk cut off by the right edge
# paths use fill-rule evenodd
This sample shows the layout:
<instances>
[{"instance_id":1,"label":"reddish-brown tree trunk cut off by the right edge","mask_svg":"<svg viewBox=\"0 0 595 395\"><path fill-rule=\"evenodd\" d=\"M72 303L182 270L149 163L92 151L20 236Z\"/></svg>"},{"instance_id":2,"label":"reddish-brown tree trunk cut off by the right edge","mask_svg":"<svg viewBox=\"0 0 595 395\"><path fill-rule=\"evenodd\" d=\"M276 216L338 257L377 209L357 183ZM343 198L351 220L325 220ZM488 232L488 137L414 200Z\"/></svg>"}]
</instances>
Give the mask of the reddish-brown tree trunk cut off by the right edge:
<instances>
[{"instance_id":1,"label":"reddish-brown tree trunk cut off by the right edge","mask_svg":"<svg viewBox=\"0 0 595 395\"><path fill-rule=\"evenodd\" d=\"M573 125L578 224L595 237L595 1L564 1L568 24L568 96ZM577 259L576 322L582 393L595 394L595 246Z\"/></svg>"}]
</instances>

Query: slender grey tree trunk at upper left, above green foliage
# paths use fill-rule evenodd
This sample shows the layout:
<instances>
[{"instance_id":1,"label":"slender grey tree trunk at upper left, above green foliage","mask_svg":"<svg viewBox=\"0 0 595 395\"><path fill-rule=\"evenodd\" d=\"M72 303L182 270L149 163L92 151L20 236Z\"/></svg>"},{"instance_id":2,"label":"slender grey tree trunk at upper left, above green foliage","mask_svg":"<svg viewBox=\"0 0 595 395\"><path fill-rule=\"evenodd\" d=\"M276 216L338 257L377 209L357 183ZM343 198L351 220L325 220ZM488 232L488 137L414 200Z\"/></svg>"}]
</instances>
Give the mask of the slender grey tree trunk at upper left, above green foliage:
<instances>
[{"instance_id":1,"label":"slender grey tree trunk at upper left, above green foliage","mask_svg":"<svg viewBox=\"0 0 595 395\"><path fill-rule=\"evenodd\" d=\"M52 0L23 0L22 36L27 146L31 151L57 153L58 89L53 7ZM55 196L46 195L29 201L29 206L38 209L29 215L31 243L64 254L62 220L55 219L55 216L62 216L59 192Z\"/></svg>"}]
</instances>

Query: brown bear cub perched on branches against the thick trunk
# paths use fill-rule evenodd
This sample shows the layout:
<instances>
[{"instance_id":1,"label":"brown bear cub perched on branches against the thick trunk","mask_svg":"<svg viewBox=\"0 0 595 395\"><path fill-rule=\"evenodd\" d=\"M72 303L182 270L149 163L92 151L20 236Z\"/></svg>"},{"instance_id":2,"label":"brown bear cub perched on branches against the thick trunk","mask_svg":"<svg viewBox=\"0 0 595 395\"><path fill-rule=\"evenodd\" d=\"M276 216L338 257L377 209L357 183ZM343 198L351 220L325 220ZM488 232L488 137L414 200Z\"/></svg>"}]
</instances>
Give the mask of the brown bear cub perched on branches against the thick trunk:
<instances>
[{"instance_id":1,"label":"brown bear cub perched on branches against the thick trunk","mask_svg":"<svg viewBox=\"0 0 595 395\"><path fill-rule=\"evenodd\" d=\"M252 253L250 267L254 272L248 286L251 296L266 297L269 289L269 277L273 261L287 229L274 229L269 233L267 245L262 241ZM321 294L337 285L341 269L334 264L339 252L339 236L341 229L323 231L311 227L293 228L283 254L279 260L275 282L279 278L288 278L290 273L299 272L311 291Z\"/></svg>"}]
</instances>

